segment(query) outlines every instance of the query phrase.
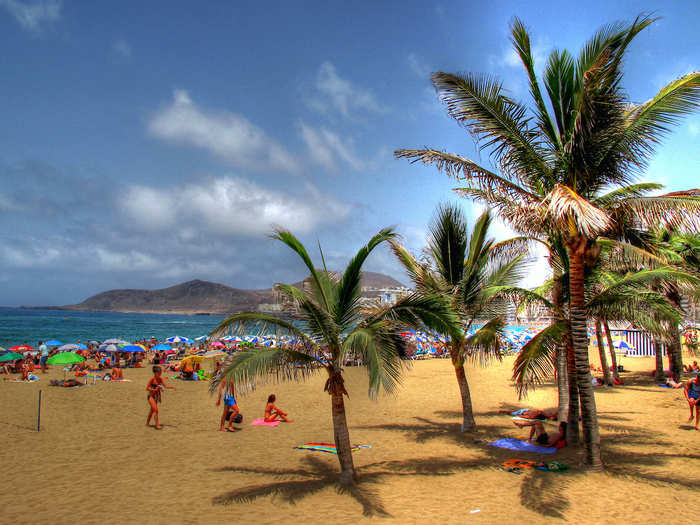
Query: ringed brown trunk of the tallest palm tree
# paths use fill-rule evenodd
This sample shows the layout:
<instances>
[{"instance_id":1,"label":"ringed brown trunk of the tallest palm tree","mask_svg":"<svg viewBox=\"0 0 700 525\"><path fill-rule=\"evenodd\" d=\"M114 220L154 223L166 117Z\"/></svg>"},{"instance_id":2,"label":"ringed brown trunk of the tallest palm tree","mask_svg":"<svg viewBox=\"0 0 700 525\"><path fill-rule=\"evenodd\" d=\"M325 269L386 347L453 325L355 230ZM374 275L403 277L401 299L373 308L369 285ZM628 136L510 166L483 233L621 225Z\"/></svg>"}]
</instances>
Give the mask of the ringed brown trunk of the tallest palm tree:
<instances>
[{"instance_id":1,"label":"ringed brown trunk of the tallest palm tree","mask_svg":"<svg viewBox=\"0 0 700 525\"><path fill-rule=\"evenodd\" d=\"M569 246L569 290L571 293L571 339L576 359L576 378L581 402L584 461L592 469L600 470L600 432L596 413L595 394L591 382L588 361L588 335L586 333L586 305L583 256L586 240L579 239Z\"/></svg>"}]
</instances>

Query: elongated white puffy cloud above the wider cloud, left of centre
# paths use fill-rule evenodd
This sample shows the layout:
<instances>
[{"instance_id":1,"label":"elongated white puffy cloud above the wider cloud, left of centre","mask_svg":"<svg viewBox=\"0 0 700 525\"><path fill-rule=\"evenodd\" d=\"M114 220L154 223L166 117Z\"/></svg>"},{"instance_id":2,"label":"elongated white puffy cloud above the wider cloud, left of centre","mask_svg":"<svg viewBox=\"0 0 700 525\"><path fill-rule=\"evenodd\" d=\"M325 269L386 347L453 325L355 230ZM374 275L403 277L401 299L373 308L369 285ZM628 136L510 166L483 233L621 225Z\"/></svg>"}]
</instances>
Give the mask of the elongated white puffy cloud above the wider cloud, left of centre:
<instances>
[{"instance_id":1,"label":"elongated white puffy cloud above the wider cloud, left of centre","mask_svg":"<svg viewBox=\"0 0 700 525\"><path fill-rule=\"evenodd\" d=\"M298 173L294 156L243 115L205 111L176 90L173 102L148 124L156 137L205 149L232 166L254 171Z\"/></svg>"}]
</instances>

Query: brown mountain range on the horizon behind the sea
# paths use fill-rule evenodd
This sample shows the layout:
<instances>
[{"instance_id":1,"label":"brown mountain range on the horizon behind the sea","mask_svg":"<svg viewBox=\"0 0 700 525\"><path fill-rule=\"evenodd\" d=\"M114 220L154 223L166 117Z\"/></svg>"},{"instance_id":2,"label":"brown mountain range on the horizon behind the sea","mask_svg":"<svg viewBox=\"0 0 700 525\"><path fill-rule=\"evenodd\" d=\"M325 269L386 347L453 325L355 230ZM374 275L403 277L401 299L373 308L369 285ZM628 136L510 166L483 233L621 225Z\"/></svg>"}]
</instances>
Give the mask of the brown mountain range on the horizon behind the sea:
<instances>
[{"instance_id":1,"label":"brown mountain range on the horizon behind the sea","mask_svg":"<svg viewBox=\"0 0 700 525\"><path fill-rule=\"evenodd\" d=\"M301 286L301 283L297 283L297 286ZM388 275L363 272L362 286L391 288L403 285ZM231 314L256 310L260 304L273 302L271 288L240 290L224 284L194 280L160 290L109 290L93 295L80 304L56 308L96 312Z\"/></svg>"}]
</instances>

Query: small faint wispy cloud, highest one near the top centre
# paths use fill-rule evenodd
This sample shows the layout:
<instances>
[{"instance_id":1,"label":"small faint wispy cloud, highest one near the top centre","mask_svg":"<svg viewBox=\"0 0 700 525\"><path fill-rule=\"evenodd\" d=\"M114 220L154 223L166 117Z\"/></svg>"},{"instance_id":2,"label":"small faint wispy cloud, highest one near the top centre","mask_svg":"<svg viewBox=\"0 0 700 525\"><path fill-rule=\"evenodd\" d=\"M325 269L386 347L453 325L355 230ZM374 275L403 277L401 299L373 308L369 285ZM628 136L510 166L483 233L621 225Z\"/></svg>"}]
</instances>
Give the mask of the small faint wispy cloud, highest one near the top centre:
<instances>
[{"instance_id":1,"label":"small faint wispy cloud, highest one near the top centre","mask_svg":"<svg viewBox=\"0 0 700 525\"><path fill-rule=\"evenodd\" d=\"M387 111L371 90L354 86L349 80L342 78L330 62L321 64L314 87L315 92L307 102L312 108L324 113L334 110L344 117L354 117L363 111Z\"/></svg>"}]
</instances>

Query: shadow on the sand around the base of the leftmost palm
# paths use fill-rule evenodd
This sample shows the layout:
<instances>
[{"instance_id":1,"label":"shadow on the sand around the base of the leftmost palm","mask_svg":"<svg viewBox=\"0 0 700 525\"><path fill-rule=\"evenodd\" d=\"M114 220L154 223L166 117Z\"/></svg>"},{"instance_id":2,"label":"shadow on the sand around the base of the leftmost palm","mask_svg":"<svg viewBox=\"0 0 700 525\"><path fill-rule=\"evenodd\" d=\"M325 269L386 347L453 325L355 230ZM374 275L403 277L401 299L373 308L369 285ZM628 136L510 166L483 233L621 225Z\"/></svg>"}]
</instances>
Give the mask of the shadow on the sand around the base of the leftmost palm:
<instances>
[{"instance_id":1,"label":"shadow on the sand around the base of the leftmost palm","mask_svg":"<svg viewBox=\"0 0 700 525\"><path fill-rule=\"evenodd\" d=\"M357 483L342 486L338 483L338 471L325 461L315 457L303 459L304 468L273 469L260 467L222 467L216 472L240 472L269 475L276 478L269 483L261 483L231 490L212 498L214 505L250 503L258 498L281 498L289 504L322 491L335 488L341 495L353 498L362 506L362 514L367 517L391 517L374 488L386 477L392 476L448 476L460 470L486 468L490 460L462 460L450 457L433 457L405 461L382 461L365 465L358 469Z\"/></svg>"}]
</instances>

